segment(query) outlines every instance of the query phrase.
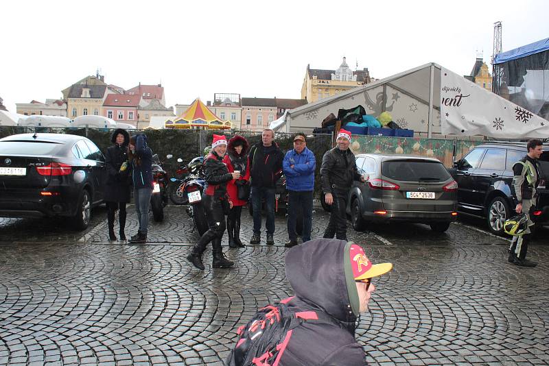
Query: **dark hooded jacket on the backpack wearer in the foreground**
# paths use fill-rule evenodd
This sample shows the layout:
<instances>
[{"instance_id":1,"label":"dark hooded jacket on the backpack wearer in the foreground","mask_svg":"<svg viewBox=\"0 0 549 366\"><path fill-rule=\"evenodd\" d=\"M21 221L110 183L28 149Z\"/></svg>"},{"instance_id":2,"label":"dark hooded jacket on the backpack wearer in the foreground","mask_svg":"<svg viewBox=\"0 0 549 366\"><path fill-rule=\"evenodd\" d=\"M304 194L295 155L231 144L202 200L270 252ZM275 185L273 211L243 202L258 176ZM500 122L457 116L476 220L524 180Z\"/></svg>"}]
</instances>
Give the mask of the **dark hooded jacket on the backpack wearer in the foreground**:
<instances>
[{"instance_id":1,"label":"dark hooded jacket on the backpack wearer in the foreground","mask_svg":"<svg viewBox=\"0 0 549 366\"><path fill-rule=\"evenodd\" d=\"M364 350L354 337L351 301L356 308L358 293L352 269L346 271L344 265L349 245L338 239L315 239L286 255L286 277L296 294L287 304L290 310L324 313L333 324L305 321L295 328L279 365L366 365Z\"/></svg>"}]
</instances>

